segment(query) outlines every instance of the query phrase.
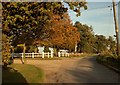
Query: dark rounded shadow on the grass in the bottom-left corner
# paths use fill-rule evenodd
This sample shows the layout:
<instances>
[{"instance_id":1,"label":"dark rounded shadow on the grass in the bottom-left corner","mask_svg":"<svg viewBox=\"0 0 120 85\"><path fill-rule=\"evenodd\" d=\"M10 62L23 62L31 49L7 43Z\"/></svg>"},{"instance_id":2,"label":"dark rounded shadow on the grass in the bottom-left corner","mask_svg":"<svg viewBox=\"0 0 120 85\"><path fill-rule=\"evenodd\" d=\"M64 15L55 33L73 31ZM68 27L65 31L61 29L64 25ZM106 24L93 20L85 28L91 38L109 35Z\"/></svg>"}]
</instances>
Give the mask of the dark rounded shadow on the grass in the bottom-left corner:
<instances>
[{"instance_id":1,"label":"dark rounded shadow on the grass in the bottom-left corner","mask_svg":"<svg viewBox=\"0 0 120 85\"><path fill-rule=\"evenodd\" d=\"M7 67L6 69L2 68L2 85L6 85L6 84L28 85L23 75L11 67Z\"/></svg>"}]
</instances>

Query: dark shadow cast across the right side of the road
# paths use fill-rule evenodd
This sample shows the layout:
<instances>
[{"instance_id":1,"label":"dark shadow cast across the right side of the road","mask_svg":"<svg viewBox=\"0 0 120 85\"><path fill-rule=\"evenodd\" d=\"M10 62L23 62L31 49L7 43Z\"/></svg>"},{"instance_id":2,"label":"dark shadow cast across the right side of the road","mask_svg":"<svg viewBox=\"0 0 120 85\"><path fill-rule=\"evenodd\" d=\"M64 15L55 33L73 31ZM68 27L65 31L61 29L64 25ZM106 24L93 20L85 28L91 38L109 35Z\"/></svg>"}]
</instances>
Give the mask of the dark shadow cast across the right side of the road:
<instances>
[{"instance_id":1,"label":"dark shadow cast across the right side of the road","mask_svg":"<svg viewBox=\"0 0 120 85\"><path fill-rule=\"evenodd\" d=\"M86 57L76 63L74 69L66 69L75 81L92 85L92 83L118 84L120 75L96 62L96 57ZM110 84L110 85L111 85Z\"/></svg>"}]
</instances>

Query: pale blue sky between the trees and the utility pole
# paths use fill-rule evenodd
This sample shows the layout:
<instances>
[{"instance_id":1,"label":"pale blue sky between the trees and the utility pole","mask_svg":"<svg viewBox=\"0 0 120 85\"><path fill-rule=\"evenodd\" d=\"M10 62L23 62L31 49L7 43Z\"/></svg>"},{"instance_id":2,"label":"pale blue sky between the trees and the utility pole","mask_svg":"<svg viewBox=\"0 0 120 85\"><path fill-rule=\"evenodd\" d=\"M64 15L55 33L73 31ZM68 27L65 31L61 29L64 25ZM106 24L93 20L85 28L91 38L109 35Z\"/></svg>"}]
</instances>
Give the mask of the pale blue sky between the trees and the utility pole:
<instances>
[{"instance_id":1,"label":"pale blue sky between the trees and the utility pole","mask_svg":"<svg viewBox=\"0 0 120 85\"><path fill-rule=\"evenodd\" d=\"M81 9L81 16L76 17L76 13L71 10L68 10L68 13L73 23L79 21L87 24L93 27L95 34L108 37L115 35L113 10L111 9L112 2L88 2L88 9Z\"/></svg>"}]
</instances>

